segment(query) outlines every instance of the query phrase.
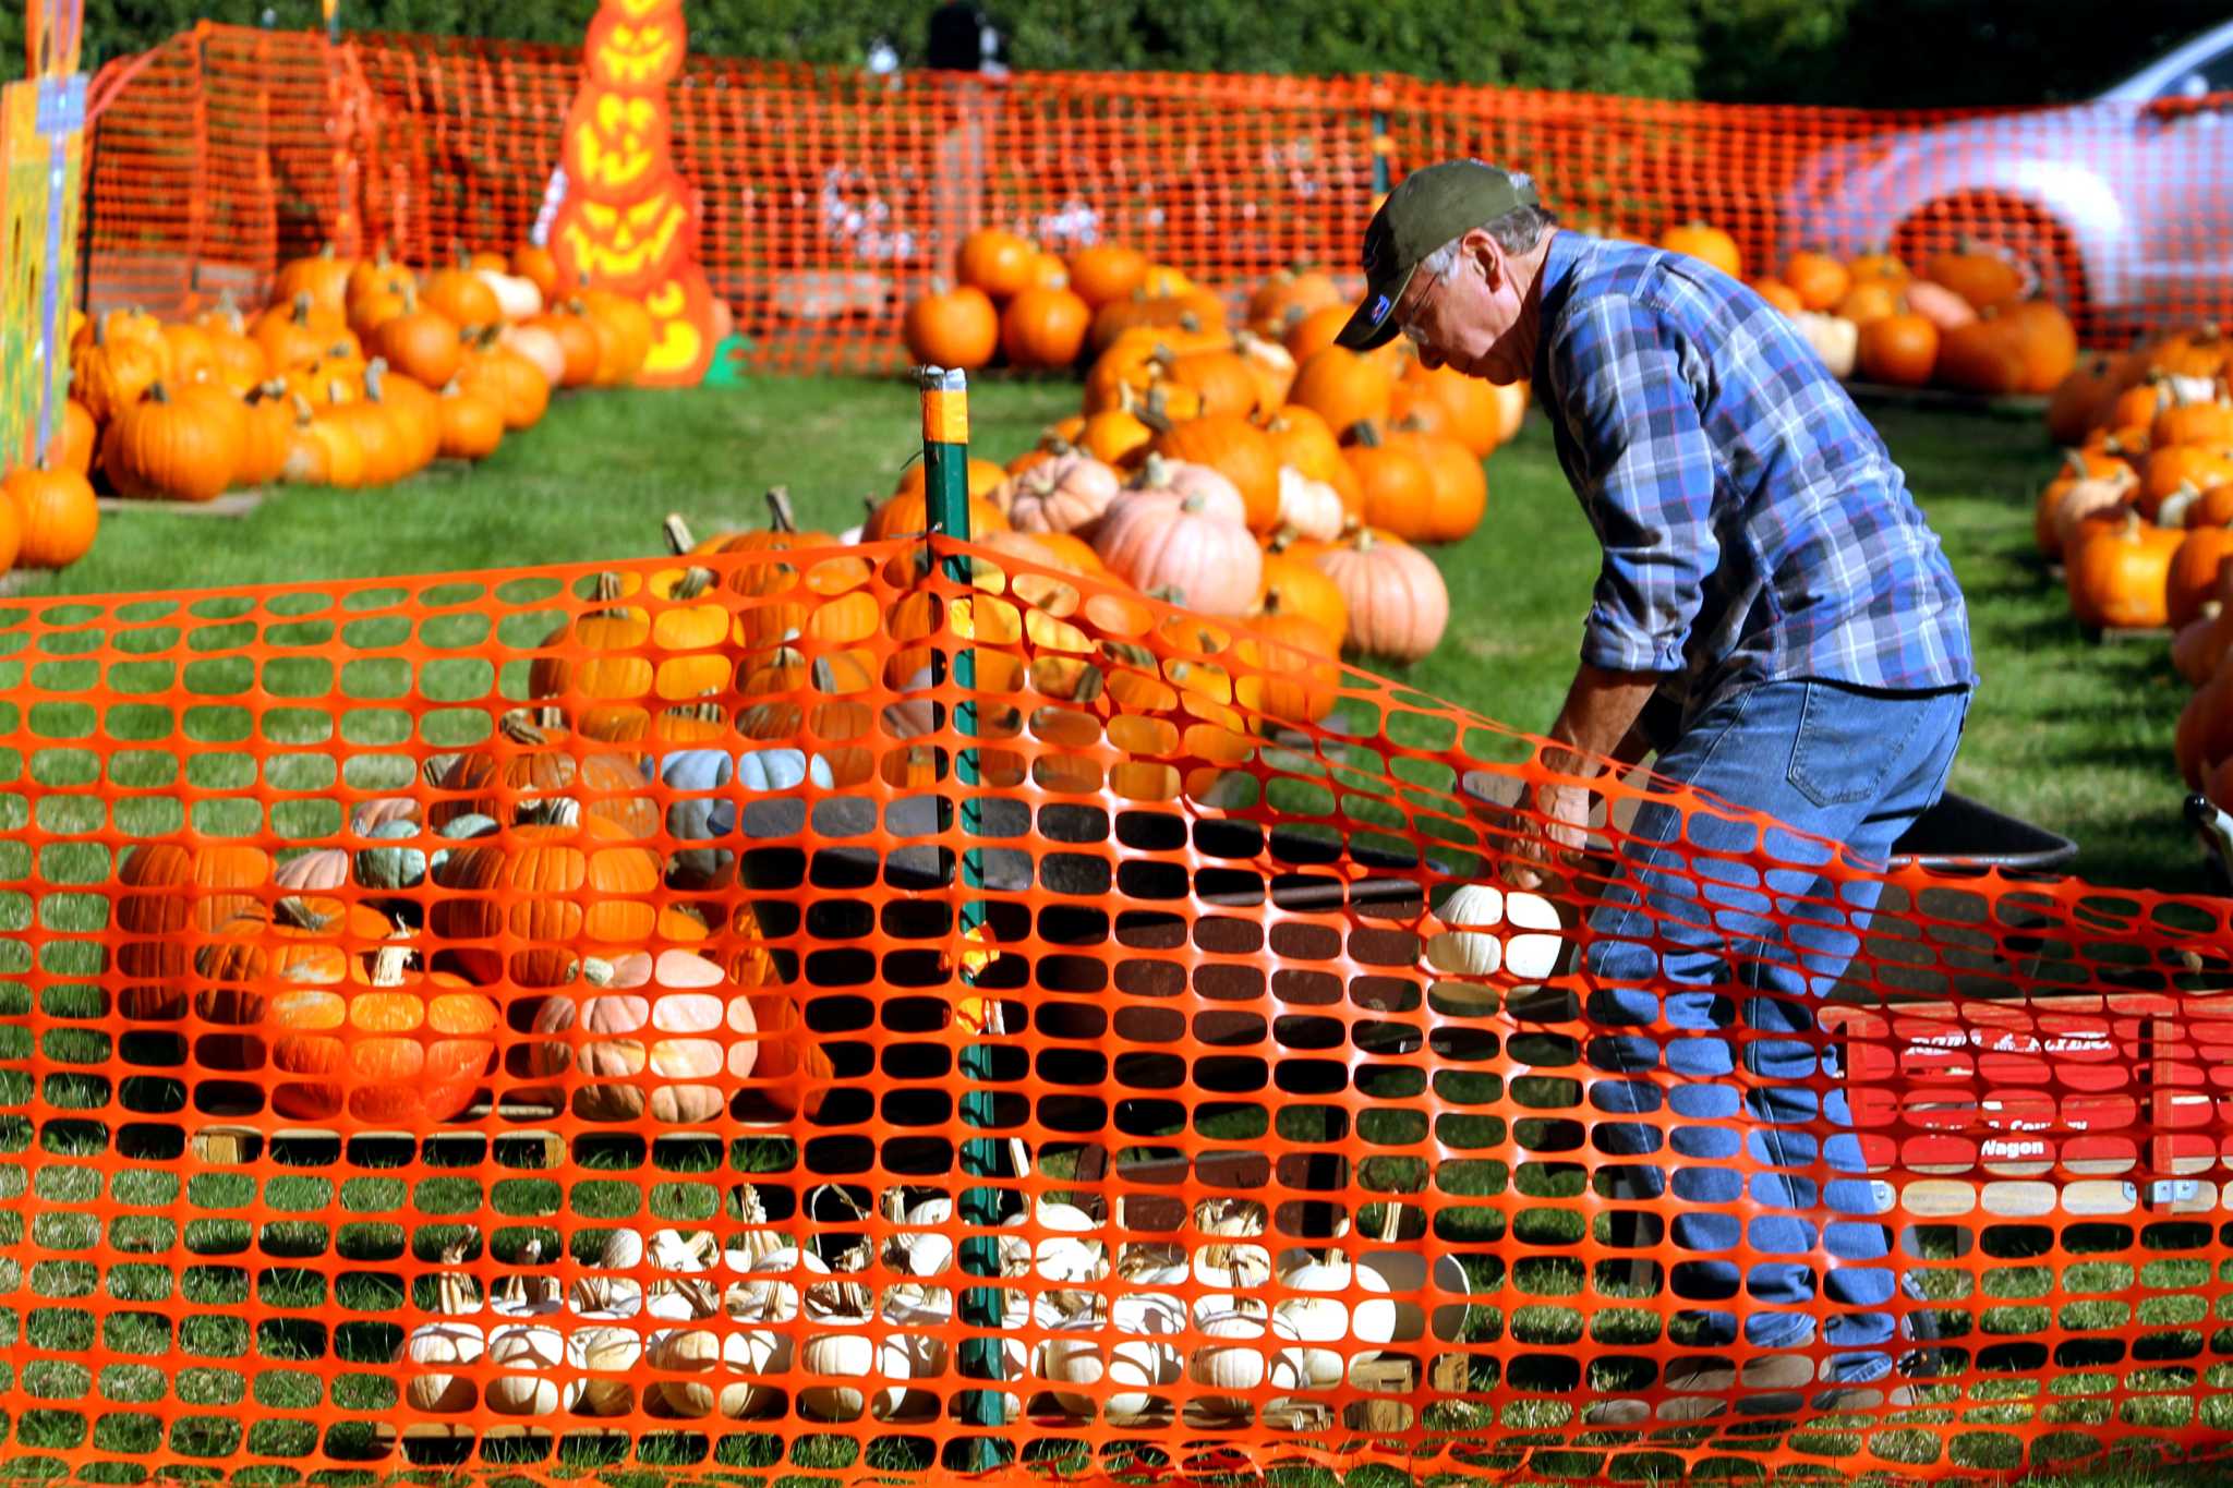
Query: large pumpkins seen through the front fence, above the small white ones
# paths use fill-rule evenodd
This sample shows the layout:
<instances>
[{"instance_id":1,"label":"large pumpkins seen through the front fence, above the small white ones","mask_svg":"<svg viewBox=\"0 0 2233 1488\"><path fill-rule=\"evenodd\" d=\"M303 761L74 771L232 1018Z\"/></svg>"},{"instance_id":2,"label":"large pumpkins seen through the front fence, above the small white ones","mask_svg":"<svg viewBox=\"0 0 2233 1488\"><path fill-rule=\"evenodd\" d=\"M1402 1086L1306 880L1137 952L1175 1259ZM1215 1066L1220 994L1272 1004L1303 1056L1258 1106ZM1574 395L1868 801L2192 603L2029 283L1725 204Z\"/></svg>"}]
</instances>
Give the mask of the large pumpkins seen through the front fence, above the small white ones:
<instances>
[{"instance_id":1,"label":"large pumpkins seen through the front fence, above the small white ones","mask_svg":"<svg viewBox=\"0 0 2233 1488\"><path fill-rule=\"evenodd\" d=\"M607 576L531 660L529 707L429 759L422 790L344 803L337 841L123 854L118 1011L172 1035L156 1062L295 1120L442 1122L496 1078L590 1122L811 1109L828 1066L797 953L737 895L744 819L808 785L945 781L938 647L971 645L994 698L987 790L1170 801L1338 698L1300 618L1157 618L1034 553L949 605L922 589L920 549L871 562L770 504L766 531L670 531L750 558L721 580ZM1157 649L1096 645L1081 622Z\"/></svg>"}]
</instances>

